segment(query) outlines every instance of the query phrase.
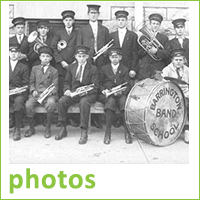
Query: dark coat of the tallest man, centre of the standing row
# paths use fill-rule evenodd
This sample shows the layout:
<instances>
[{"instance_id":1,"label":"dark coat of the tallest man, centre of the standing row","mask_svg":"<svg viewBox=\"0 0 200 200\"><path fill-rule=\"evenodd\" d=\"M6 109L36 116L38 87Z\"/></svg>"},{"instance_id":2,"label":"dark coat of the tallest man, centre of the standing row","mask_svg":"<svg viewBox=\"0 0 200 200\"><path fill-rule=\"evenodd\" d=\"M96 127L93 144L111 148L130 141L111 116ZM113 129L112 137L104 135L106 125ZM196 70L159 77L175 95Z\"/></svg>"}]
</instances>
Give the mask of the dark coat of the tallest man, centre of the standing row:
<instances>
[{"instance_id":1,"label":"dark coat of the tallest man, centre of the standing row","mask_svg":"<svg viewBox=\"0 0 200 200\"><path fill-rule=\"evenodd\" d=\"M104 45L109 42L109 31L105 26L98 24L98 33L97 33L97 51L101 49ZM90 48L89 55L92 58L95 55L94 50L94 34L92 32L92 27L90 24L81 27L78 30L77 35L77 45L84 45ZM101 55L97 58L95 64L97 67L101 67L107 63L107 58L105 55Z\"/></svg>"}]
</instances>

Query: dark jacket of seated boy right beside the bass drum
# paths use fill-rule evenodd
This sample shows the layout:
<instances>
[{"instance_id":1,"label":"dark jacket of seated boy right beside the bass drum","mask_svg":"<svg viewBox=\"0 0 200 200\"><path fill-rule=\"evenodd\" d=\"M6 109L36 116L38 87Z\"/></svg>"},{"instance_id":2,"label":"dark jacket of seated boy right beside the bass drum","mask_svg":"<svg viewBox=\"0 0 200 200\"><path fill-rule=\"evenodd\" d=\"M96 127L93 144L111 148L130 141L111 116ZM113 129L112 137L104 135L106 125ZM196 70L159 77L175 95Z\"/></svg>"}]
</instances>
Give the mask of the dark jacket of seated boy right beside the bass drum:
<instances>
[{"instance_id":1,"label":"dark jacket of seated boy right beside the bass drum","mask_svg":"<svg viewBox=\"0 0 200 200\"><path fill-rule=\"evenodd\" d=\"M120 64L117 73L114 74L111 64L107 64L101 67L99 72L100 92L102 93L105 89L112 89L122 83L127 82L127 89L123 91L123 94L128 94L130 91L130 78L128 75L128 69Z\"/></svg>"}]
</instances>

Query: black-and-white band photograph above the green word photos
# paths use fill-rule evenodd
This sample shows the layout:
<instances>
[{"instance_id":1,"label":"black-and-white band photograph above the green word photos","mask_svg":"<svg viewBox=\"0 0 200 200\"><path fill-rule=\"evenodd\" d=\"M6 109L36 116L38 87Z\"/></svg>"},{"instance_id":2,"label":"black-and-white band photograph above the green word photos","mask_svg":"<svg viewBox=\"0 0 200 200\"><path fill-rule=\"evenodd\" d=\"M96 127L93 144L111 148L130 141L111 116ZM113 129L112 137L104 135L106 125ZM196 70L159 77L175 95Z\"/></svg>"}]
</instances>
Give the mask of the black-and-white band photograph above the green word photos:
<instances>
[{"instance_id":1,"label":"black-and-white band photograph above the green word photos","mask_svg":"<svg viewBox=\"0 0 200 200\"><path fill-rule=\"evenodd\" d=\"M151 164L189 168L189 71L199 70L189 1L8 6L10 166L142 166L141 177Z\"/></svg>"}]
</instances>

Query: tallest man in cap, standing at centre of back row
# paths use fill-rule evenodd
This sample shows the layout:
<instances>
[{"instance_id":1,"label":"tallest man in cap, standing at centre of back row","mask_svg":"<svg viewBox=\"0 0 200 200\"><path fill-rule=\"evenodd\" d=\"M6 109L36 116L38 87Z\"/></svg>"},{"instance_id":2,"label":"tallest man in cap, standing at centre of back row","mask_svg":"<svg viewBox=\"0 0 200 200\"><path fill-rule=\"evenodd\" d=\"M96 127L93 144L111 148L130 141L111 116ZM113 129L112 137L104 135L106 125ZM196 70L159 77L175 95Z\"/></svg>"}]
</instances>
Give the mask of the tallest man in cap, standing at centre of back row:
<instances>
[{"instance_id":1,"label":"tallest man in cap, standing at centre of back row","mask_svg":"<svg viewBox=\"0 0 200 200\"><path fill-rule=\"evenodd\" d=\"M93 58L95 54L109 42L109 30L98 23L100 5L87 5L89 23L78 30L77 45L84 45L90 48L89 56ZM107 64L106 54L100 55L94 63L98 69ZM103 128L101 117L93 116L92 124L96 128Z\"/></svg>"}]
</instances>

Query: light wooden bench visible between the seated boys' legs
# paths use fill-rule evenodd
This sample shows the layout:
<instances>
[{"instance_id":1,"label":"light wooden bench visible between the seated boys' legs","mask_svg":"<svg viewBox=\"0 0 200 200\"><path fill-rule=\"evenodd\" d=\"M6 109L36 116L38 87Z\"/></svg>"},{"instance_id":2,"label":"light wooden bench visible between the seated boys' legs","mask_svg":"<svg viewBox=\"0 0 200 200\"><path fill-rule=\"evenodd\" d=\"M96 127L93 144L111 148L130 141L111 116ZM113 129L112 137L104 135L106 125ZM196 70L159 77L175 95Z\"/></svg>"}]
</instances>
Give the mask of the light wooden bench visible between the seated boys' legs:
<instances>
[{"instance_id":1,"label":"light wooden bench visible between the seated boys' legs","mask_svg":"<svg viewBox=\"0 0 200 200\"><path fill-rule=\"evenodd\" d=\"M36 113L46 113L46 110L43 106L38 106L38 107L36 107L35 112ZM56 111L55 113L58 113L58 111ZM68 113L80 113L78 104L70 106L68 109ZM91 133L91 114L104 114L104 105L100 102L96 102L91 105L89 121L88 121L88 133Z\"/></svg>"}]
</instances>

